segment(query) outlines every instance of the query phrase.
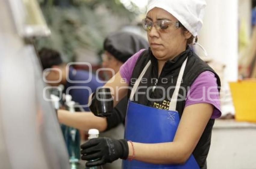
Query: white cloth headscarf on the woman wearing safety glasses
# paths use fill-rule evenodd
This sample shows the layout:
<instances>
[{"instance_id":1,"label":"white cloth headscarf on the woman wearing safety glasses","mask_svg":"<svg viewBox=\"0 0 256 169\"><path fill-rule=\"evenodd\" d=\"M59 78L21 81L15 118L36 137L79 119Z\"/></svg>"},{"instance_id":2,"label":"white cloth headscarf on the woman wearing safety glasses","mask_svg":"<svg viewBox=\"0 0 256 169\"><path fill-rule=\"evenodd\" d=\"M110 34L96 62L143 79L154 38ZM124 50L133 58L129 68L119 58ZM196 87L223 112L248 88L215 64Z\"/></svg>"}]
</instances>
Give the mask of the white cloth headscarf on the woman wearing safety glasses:
<instances>
[{"instance_id":1,"label":"white cloth headscarf on the woman wearing safety glasses","mask_svg":"<svg viewBox=\"0 0 256 169\"><path fill-rule=\"evenodd\" d=\"M203 25L205 0L149 0L147 13L159 7L172 14L194 36Z\"/></svg>"}]
</instances>

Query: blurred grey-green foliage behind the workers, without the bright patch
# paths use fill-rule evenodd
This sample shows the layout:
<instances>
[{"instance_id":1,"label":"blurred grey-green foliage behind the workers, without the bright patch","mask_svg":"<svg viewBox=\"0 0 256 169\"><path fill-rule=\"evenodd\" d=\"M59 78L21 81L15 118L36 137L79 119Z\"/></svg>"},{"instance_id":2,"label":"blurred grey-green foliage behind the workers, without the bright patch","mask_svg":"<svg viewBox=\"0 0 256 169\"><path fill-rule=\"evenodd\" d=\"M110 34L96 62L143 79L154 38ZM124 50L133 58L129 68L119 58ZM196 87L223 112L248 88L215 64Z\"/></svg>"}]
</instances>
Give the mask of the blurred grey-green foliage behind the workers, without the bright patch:
<instances>
[{"instance_id":1,"label":"blurred grey-green foliage behind the workers, without the bright patch","mask_svg":"<svg viewBox=\"0 0 256 169\"><path fill-rule=\"evenodd\" d=\"M106 23L110 17L129 22L135 16L119 0L38 1L52 35L37 38L36 46L60 51L65 61L73 61L77 48L101 50L104 38L119 29Z\"/></svg>"}]
</instances>

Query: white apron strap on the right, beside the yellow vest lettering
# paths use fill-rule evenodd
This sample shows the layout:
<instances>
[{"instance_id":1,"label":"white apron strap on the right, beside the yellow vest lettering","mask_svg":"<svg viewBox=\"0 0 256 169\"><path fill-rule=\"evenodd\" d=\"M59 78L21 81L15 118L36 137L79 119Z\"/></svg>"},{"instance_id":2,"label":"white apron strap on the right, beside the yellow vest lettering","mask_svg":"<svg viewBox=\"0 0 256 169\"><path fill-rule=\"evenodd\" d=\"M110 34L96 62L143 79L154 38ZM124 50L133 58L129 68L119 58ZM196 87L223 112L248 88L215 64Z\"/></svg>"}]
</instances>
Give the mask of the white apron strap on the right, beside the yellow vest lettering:
<instances>
[{"instance_id":1,"label":"white apron strap on the right, beside the yellow vest lettering","mask_svg":"<svg viewBox=\"0 0 256 169\"><path fill-rule=\"evenodd\" d=\"M186 60L183 62L182 66L180 68L180 73L179 73L179 76L177 79L176 87L173 92L173 96L172 96L172 99L171 99L170 105L169 105L170 111L176 111L176 104L177 104L177 99L178 99L178 95L179 95L180 85L182 82L182 78L183 78L184 70L185 70L185 67L187 64L187 60L188 60L188 58L186 58Z\"/></svg>"}]
</instances>

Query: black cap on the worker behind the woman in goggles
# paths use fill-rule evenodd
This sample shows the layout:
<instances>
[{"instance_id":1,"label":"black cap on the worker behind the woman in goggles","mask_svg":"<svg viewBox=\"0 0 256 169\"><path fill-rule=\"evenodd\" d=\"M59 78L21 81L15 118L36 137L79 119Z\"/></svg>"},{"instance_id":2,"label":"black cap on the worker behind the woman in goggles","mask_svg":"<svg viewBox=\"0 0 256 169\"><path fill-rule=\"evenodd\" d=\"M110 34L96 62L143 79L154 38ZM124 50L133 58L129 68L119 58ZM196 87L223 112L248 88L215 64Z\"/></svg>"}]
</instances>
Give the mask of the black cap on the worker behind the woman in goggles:
<instances>
[{"instance_id":1,"label":"black cap on the worker behind the woman in goggles","mask_svg":"<svg viewBox=\"0 0 256 169\"><path fill-rule=\"evenodd\" d=\"M148 47L148 42L143 37L130 32L110 34L104 41L104 50L123 63L139 50Z\"/></svg>"}]
</instances>

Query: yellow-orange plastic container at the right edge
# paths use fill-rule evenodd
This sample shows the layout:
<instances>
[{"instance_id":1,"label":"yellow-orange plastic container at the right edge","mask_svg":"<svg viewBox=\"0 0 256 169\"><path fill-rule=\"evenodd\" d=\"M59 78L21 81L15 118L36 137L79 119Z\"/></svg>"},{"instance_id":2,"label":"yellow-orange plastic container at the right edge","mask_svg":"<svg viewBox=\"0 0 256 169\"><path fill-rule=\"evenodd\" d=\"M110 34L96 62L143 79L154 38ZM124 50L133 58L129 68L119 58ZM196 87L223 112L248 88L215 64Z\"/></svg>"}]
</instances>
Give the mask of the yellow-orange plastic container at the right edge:
<instances>
[{"instance_id":1,"label":"yellow-orange plastic container at the right edge","mask_svg":"<svg viewBox=\"0 0 256 169\"><path fill-rule=\"evenodd\" d=\"M230 82L237 121L256 122L256 80Z\"/></svg>"}]
</instances>

